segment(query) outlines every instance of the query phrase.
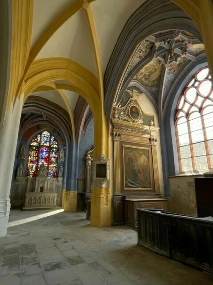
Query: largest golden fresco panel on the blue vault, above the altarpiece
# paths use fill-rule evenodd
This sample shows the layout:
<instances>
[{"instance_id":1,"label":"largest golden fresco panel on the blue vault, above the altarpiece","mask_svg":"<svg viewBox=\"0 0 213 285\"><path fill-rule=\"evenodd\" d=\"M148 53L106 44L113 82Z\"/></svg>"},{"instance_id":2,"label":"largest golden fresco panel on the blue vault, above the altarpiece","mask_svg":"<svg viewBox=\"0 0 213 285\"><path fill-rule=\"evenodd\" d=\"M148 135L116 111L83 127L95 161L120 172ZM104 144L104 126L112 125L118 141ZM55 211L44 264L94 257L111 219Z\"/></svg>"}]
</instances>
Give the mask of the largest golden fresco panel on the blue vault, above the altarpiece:
<instances>
[{"instance_id":1,"label":"largest golden fresco panel on the blue vault, above the altarpiece","mask_svg":"<svg viewBox=\"0 0 213 285\"><path fill-rule=\"evenodd\" d=\"M156 86L160 80L161 71L162 64L153 59L138 72L135 79L144 86Z\"/></svg>"}]
</instances>

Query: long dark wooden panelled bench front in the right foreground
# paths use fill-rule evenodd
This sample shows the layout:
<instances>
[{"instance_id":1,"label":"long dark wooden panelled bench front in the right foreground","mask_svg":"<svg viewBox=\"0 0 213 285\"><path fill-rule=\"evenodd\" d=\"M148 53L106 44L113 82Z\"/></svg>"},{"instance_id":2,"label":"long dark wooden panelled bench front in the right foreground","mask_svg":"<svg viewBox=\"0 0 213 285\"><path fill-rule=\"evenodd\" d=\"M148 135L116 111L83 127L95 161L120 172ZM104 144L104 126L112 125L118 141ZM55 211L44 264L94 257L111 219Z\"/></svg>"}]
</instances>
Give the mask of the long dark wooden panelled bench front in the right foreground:
<instances>
[{"instance_id":1,"label":"long dark wooden panelled bench front in the right foreground","mask_svg":"<svg viewBox=\"0 0 213 285\"><path fill-rule=\"evenodd\" d=\"M138 244L213 272L213 222L138 209Z\"/></svg>"}]
</instances>

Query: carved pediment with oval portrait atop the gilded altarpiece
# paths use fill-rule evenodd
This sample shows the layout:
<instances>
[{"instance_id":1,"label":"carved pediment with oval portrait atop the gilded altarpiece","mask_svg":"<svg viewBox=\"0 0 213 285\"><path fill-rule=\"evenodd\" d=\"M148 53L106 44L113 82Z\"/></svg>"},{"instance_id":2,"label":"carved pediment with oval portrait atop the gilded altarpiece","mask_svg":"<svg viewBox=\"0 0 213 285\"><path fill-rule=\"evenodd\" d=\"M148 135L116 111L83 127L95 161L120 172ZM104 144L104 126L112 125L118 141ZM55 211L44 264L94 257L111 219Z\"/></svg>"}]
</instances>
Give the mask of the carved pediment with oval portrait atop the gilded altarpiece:
<instances>
[{"instance_id":1,"label":"carved pediment with oval portrait atop the gilded altarpiece","mask_svg":"<svg viewBox=\"0 0 213 285\"><path fill-rule=\"evenodd\" d=\"M121 121L143 124L141 107L134 98L130 98L124 107L114 107L113 118Z\"/></svg>"}]
</instances>

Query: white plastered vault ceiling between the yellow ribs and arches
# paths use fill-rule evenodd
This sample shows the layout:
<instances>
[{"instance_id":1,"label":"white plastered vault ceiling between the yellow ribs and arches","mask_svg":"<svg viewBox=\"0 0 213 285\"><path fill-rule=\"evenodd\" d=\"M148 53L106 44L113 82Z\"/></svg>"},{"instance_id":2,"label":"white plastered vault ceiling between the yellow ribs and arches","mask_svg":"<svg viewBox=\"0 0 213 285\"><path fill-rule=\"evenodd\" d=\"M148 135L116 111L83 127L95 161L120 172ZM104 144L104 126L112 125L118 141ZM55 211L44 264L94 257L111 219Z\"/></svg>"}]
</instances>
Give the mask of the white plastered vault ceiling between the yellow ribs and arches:
<instances>
[{"instance_id":1,"label":"white plastered vault ceiling between the yellow ribs and arches","mask_svg":"<svg viewBox=\"0 0 213 285\"><path fill-rule=\"evenodd\" d=\"M34 0L31 48L51 22L75 1L80 0ZM145 0L96 0L91 3L103 75L120 32L132 13L144 2ZM46 57L72 59L97 76L95 52L85 9L75 13L52 35L36 59ZM69 84L61 80L56 83ZM71 91L64 92L74 112L79 95ZM57 91L36 92L33 95L46 98L67 110Z\"/></svg>"}]
</instances>

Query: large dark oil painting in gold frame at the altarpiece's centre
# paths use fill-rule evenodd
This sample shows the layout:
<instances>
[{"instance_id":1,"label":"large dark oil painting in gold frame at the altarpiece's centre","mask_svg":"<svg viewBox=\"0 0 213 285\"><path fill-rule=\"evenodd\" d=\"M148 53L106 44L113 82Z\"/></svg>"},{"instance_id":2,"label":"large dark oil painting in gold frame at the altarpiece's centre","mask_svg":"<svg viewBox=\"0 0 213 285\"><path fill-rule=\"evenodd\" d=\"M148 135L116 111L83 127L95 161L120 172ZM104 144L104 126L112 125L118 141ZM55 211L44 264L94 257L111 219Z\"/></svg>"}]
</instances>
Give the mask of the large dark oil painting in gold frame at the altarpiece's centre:
<instances>
[{"instance_id":1,"label":"large dark oil painting in gold frame at the altarpiece's centre","mask_svg":"<svg viewBox=\"0 0 213 285\"><path fill-rule=\"evenodd\" d=\"M151 189L149 148L123 146L124 188Z\"/></svg>"}]
</instances>

